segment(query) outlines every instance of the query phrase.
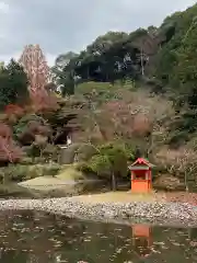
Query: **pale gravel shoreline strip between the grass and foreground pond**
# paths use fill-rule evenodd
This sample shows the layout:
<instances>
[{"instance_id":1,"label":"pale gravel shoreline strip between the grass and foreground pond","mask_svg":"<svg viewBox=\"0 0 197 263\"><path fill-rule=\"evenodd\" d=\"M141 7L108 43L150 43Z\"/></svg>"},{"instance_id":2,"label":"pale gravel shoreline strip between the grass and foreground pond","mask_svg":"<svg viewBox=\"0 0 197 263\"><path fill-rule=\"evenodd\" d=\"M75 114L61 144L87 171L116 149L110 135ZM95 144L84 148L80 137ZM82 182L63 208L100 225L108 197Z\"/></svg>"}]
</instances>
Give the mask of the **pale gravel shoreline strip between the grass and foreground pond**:
<instances>
[{"instance_id":1,"label":"pale gravel shoreline strip between the grass and foreground pond","mask_svg":"<svg viewBox=\"0 0 197 263\"><path fill-rule=\"evenodd\" d=\"M72 197L0 201L0 210L40 210L70 218L131 224L197 227L197 206L186 203L132 202L90 204Z\"/></svg>"}]
</instances>

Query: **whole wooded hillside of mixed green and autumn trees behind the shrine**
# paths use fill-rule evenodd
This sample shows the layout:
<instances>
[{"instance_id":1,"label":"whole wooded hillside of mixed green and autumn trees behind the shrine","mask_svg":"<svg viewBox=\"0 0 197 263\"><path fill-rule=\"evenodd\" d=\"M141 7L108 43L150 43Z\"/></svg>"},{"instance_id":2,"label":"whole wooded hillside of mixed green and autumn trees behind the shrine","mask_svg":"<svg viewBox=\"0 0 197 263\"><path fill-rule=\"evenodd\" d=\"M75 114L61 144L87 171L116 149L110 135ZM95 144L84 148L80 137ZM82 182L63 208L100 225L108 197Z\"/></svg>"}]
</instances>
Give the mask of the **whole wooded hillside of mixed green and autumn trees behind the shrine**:
<instances>
[{"instance_id":1,"label":"whole wooded hillside of mixed green and autumn trees behind the shrine","mask_svg":"<svg viewBox=\"0 0 197 263\"><path fill-rule=\"evenodd\" d=\"M3 162L24 156L57 162L53 152L71 136L67 159L84 172L120 176L129 161L144 156L161 173L194 182L196 23L197 4L167 16L160 27L99 36L80 54L58 56L50 82L42 73L37 78L45 89L36 99L28 94L30 70L13 60L2 65ZM11 147L7 155L4 145Z\"/></svg>"}]
</instances>

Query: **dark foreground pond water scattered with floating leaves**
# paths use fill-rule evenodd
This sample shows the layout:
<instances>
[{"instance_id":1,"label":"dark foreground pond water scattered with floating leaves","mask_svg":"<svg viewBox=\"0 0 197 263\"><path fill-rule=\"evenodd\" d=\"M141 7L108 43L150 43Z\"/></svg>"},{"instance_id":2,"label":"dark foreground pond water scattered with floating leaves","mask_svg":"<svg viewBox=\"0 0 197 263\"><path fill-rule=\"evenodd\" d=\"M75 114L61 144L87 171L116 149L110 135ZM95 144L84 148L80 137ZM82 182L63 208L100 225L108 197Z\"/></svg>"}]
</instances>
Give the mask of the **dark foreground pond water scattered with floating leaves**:
<instances>
[{"instance_id":1,"label":"dark foreground pond water scattered with floating leaves","mask_svg":"<svg viewBox=\"0 0 197 263\"><path fill-rule=\"evenodd\" d=\"M197 262L197 229L86 222L0 213L0 263Z\"/></svg>"}]
</instances>

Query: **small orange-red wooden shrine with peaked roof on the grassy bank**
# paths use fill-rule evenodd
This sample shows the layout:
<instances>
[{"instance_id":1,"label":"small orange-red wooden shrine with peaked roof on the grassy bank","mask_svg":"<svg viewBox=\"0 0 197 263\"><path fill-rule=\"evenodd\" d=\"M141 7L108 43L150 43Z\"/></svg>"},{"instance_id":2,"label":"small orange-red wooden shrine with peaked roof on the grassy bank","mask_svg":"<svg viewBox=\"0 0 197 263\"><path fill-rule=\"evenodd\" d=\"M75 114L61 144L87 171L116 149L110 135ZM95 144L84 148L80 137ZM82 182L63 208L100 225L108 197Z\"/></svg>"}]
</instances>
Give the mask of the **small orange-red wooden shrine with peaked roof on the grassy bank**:
<instances>
[{"instance_id":1,"label":"small orange-red wooden shrine with peaked roof on the grassy bank","mask_svg":"<svg viewBox=\"0 0 197 263\"><path fill-rule=\"evenodd\" d=\"M148 193L152 190L152 173L153 165L143 158L138 158L130 167L131 173L131 192Z\"/></svg>"}]
</instances>

